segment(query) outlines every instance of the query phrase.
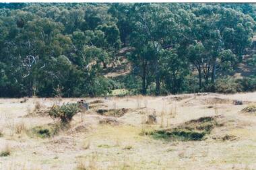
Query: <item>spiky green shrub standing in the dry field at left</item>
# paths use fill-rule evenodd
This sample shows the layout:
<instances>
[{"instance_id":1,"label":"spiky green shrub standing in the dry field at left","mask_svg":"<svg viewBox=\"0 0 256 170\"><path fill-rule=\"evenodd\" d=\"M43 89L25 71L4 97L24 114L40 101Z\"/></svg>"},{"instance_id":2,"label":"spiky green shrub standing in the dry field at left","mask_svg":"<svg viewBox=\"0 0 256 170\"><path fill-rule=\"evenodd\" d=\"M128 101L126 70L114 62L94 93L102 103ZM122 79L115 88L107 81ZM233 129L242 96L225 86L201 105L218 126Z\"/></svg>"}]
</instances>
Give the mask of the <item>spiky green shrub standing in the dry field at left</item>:
<instances>
[{"instance_id":1,"label":"spiky green shrub standing in the dry field at left","mask_svg":"<svg viewBox=\"0 0 256 170\"><path fill-rule=\"evenodd\" d=\"M73 116L79 112L79 105L77 103L67 103L61 106L53 105L49 112L49 116L53 119L59 119L63 123L69 123Z\"/></svg>"}]
</instances>

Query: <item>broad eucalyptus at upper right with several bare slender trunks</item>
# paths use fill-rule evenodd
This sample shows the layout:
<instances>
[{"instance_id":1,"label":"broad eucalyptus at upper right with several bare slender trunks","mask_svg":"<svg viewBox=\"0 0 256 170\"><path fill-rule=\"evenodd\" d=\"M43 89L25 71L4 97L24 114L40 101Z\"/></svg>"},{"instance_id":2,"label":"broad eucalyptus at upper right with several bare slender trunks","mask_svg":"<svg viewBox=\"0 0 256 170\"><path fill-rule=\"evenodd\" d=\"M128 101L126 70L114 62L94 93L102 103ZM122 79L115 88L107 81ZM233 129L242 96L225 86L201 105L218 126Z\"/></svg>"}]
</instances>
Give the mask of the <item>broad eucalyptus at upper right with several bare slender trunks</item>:
<instances>
[{"instance_id":1,"label":"broad eucalyptus at upper right with several bare slender trunks","mask_svg":"<svg viewBox=\"0 0 256 170\"><path fill-rule=\"evenodd\" d=\"M215 83L218 67L222 67L222 62L218 61L224 50L232 52L232 60L241 60L245 49L251 45L255 22L249 15L219 5L199 5L193 8L193 13L195 34L191 39L195 41L189 45L191 51L187 54L197 68L201 87L201 71L206 84L209 79ZM232 62L232 66L234 64Z\"/></svg>"}]
</instances>

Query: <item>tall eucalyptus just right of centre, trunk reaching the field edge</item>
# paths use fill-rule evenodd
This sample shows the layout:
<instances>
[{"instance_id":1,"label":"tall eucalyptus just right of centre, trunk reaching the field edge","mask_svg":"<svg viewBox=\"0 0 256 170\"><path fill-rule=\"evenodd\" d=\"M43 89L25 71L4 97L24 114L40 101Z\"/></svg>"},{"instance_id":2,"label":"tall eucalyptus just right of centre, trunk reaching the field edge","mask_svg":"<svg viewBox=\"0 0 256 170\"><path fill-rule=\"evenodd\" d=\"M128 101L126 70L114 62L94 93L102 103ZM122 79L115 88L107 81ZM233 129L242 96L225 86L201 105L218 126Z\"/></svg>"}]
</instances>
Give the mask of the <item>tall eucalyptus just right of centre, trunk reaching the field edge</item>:
<instances>
[{"instance_id":1,"label":"tall eucalyptus just right of centre, trunk reaching the field edge","mask_svg":"<svg viewBox=\"0 0 256 170\"><path fill-rule=\"evenodd\" d=\"M160 94L160 50L173 42L179 26L174 21L173 14L162 4L134 4L131 15L133 33L131 43L141 39L154 49L152 52L152 67L156 83L156 95ZM136 37L136 38L134 38ZM134 46L138 48L138 46Z\"/></svg>"}]
</instances>

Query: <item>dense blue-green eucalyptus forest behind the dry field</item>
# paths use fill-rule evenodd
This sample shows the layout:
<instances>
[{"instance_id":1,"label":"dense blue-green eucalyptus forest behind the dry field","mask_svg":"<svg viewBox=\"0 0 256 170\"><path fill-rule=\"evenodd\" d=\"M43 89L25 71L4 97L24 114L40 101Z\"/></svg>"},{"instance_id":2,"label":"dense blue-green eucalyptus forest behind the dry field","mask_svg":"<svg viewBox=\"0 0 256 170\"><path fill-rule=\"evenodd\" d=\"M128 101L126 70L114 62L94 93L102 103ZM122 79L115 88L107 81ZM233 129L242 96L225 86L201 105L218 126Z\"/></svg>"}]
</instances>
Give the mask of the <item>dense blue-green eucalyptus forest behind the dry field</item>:
<instances>
[{"instance_id":1,"label":"dense blue-green eucalyptus forest behind the dry field","mask_svg":"<svg viewBox=\"0 0 256 170\"><path fill-rule=\"evenodd\" d=\"M0 97L255 91L255 31L250 3L0 3Z\"/></svg>"}]
</instances>

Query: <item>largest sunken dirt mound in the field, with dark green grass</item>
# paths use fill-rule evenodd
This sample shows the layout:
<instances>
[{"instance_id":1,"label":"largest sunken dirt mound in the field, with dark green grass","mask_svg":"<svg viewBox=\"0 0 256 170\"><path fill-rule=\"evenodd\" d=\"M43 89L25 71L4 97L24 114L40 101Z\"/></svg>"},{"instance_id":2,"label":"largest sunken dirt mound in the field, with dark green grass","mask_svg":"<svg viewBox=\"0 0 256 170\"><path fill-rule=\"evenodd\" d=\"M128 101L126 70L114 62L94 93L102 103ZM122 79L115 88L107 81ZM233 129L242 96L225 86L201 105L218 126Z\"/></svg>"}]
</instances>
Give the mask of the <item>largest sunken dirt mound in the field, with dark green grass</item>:
<instances>
[{"instance_id":1,"label":"largest sunken dirt mound in the field, with dark green grass","mask_svg":"<svg viewBox=\"0 0 256 170\"><path fill-rule=\"evenodd\" d=\"M156 139L164 138L166 140L202 140L216 126L220 126L216 121L217 118L217 116L208 116L190 120L174 128L155 130L150 135Z\"/></svg>"}]
</instances>

